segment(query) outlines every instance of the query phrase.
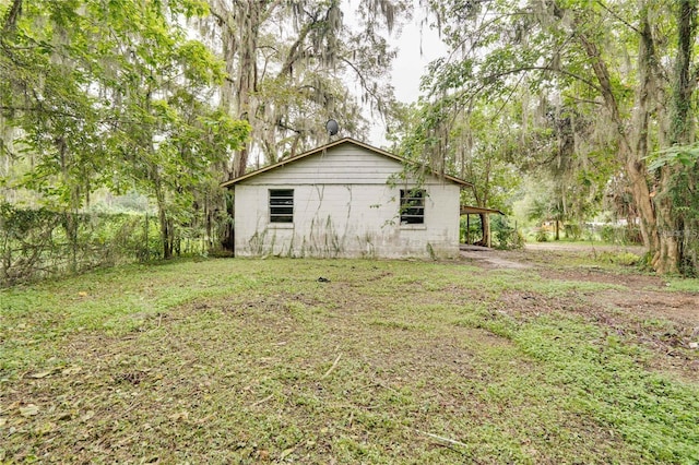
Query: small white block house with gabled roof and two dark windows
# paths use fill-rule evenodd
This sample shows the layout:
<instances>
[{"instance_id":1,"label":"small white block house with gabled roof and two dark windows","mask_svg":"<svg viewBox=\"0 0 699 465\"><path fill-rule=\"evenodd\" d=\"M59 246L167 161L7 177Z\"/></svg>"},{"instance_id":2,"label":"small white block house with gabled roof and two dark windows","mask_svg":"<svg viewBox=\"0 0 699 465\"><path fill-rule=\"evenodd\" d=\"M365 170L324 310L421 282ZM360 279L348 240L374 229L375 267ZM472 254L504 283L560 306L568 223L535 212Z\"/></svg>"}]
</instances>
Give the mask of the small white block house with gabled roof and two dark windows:
<instances>
[{"instance_id":1,"label":"small white block house with gabled roof and two dark windows","mask_svg":"<svg viewBox=\"0 0 699 465\"><path fill-rule=\"evenodd\" d=\"M223 187L237 257L449 258L471 183L342 139Z\"/></svg>"}]
</instances>

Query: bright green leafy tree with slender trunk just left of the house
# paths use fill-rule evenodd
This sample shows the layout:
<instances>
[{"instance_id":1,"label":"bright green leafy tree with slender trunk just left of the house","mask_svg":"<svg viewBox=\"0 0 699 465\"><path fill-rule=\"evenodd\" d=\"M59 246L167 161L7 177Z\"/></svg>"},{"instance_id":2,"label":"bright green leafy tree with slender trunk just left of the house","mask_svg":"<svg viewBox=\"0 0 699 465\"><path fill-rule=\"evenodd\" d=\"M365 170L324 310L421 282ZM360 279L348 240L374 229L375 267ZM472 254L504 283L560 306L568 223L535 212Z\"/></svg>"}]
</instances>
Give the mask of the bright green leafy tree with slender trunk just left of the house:
<instances>
[{"instance_id":1,"label":"bright green leafy tree with slender trunk just left of the house","mask_svg":"<svg viewBox=\"0 0 699 465\"><path fill-rule=\"evenodd\" d=\"M112 186L126 180L155 200L167 259L177 225L191 222L193 191L213 175L210 166L245 143L249 127L206 104L212 86L224 80L224 64L201 43L187 40L176 21L177 14L204 13L204 7L130 7L105 12L116 40L109 44L117 51L110 58L120 64L118 79L107 73L98 81L112 100L108 143L122 177ZM133 27L141 35L131 34Z\"/></svg>"}]
</instances>

